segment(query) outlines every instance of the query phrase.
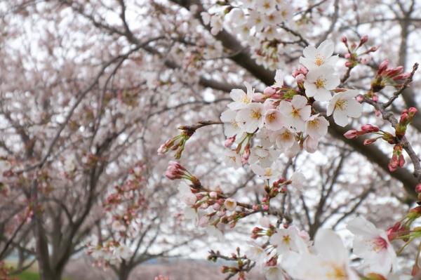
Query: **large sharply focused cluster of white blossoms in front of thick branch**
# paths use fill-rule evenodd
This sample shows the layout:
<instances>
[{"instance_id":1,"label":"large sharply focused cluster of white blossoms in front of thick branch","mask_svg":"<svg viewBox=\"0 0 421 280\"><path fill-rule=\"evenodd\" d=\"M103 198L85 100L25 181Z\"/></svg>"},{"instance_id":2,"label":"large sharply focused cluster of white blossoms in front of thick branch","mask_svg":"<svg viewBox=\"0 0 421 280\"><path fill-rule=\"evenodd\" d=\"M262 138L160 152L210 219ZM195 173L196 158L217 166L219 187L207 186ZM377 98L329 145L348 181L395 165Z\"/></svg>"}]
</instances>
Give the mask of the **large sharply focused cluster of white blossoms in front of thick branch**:
<instances>
[{"instance_id":1,"label":"large sharply focused cluster of white blossoms in front of thick branch","mask_svg":"<svg viewBox=\"0 0 421 280\"><path fill-rule=\"evenodd\" d=\"M281 70L277 70L275 83L262 93L255 92L248 83L246 91L232 90L233 102L222 112L221 121L228 138L225 146L237 145L225 153L226 164L236 168L250 164L261 178L277 179L276 160L281 153L292 157L300 149L315 152L328 132L329 122L317 112L314 102L328 102L326 115L333 115L340 126L346 126L349 117L361 116L362 106L355 99L359 91L337 88L337 60L333 42L324 41L318 48L305 48L300 58L302 66L293 72L298 89L286 86Z\"/></svg>"}]
</instances>

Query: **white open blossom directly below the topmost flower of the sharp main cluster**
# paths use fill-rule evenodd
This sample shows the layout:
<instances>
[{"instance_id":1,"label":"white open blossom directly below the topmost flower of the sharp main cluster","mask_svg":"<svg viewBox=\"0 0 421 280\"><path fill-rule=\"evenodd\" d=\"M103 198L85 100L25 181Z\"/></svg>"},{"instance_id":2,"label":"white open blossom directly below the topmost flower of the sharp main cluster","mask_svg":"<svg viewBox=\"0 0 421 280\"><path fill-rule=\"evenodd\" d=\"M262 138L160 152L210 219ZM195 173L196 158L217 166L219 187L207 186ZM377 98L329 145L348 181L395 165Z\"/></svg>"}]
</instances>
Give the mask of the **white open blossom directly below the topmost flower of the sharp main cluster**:
<instances>
[{"instance_id":1,"label":"white open blossom directly below the topmost flower of the sharp main cluster","mask_svg":"<svg viewBox=\"0 0 421 280\"><path fill-rule=\"evenodd\" d=\"M304 81L305 94L316 101L328 101L332 98L330 91L340 84L340 78L333 74L333 69L322 66L318 69L309 70Z\"/></svg>"}]
</instances>

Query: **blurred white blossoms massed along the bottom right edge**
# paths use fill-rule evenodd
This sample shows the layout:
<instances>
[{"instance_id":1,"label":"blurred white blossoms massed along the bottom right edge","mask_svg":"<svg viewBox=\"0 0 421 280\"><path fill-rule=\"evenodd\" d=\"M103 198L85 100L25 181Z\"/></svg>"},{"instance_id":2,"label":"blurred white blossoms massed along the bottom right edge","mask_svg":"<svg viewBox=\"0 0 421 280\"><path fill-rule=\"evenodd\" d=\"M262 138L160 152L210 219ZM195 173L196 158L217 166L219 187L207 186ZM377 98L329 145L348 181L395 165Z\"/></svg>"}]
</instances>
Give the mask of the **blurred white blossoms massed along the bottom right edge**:
<instances>
[{"instance_id":1,"label":"blurred white blossoms massed along the bottom right edge","mask_svg":"<svg viewBox=\"0 0 421 280\"><path fill-rule=\"evenodd\" d=\"M397 272L396 252L387 232L364 218L355 218L347 225L354 234L353 254L362 260L359 265L352 265L342 239L330 229L319 229L310 241L307 232L294 226L276 229L269 218L262 219L261 225L253 229L260 242L253 242L246 255L269 280L360 279L356 267L366 279L410 278Z\"/></svg>"}]
</instances>

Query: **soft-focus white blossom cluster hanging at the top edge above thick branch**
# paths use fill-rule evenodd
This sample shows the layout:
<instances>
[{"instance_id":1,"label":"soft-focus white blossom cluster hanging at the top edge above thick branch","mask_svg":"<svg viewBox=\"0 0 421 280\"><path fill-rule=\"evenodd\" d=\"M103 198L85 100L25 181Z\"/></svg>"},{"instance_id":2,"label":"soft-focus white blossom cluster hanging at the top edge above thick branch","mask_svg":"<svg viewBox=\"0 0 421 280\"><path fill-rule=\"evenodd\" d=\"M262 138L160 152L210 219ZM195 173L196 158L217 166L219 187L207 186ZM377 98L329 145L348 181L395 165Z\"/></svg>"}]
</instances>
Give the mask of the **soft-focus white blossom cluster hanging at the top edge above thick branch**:
<instances>
[{"instance_id":1,"label":"soft-focus white blossom cluster hanging at the top edge above thick branch","mask_svg":"<svg viewBox=\"0 0 421 280\"><path fill-rule=\"evenodd\" d=\"M296 18L293 1L243 0L236 4L221 1L216 11L202 12L201 18L217 35L224 25L250 46L253 59L269 69L282 66L279 58L294 49L295 36L285 29L304 29L306 20ZM295 40L294 40L295 39Z\"/></svg>"}]
</instances>

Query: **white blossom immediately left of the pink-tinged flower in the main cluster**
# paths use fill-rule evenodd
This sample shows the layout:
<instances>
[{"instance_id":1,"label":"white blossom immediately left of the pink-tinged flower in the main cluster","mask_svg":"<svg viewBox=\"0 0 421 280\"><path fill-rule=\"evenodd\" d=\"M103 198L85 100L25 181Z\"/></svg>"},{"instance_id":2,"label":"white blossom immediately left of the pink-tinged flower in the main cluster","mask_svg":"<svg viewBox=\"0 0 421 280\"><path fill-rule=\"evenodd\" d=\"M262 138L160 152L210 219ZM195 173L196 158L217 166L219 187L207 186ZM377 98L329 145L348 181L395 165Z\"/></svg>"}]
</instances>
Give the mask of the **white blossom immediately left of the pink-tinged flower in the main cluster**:
<instances>
[{"instance_id":1,"label":"white blossom immediately left of the pink-tinged flower in the main cluster","mask_svg":"<svg viewBox=\"0 0 421 280\"><path fill-rule=\"evenodd\" d=\"M236 121L241 130L247 133L254 133L256 129L262 128L265 124L265 112L262 103L250 103L246 108L236 114Z\"/></svg>"}]
</instances>

